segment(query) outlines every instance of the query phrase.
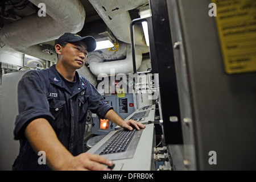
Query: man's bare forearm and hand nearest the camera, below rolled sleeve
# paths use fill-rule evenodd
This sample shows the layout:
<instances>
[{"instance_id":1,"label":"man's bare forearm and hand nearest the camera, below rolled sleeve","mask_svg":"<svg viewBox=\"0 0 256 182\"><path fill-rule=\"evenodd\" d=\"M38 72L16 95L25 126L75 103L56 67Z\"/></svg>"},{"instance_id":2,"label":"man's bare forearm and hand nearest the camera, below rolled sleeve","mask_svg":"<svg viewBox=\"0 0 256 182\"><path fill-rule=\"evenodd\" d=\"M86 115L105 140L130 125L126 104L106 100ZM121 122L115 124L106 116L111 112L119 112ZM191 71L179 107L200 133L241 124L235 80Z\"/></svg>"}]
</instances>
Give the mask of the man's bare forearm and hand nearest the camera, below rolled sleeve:
<instances>
[{"instance_id":1,"label":"man's bare forearm and hand nearest the camera, below rolled sleeve","mask_svg":"<svg viewBox=\"0 0 256 182\"><path fill-rule=\"evenodd\" d=\"M111 160L99 155L82 153L78 156L73 156L60 143L52 126L44 118L32 121L26 127L25 135L36 154L39 151L46 152L46 163L53 170L108 170L107 167L113 165Z\"/></svg>"}]
</instances>

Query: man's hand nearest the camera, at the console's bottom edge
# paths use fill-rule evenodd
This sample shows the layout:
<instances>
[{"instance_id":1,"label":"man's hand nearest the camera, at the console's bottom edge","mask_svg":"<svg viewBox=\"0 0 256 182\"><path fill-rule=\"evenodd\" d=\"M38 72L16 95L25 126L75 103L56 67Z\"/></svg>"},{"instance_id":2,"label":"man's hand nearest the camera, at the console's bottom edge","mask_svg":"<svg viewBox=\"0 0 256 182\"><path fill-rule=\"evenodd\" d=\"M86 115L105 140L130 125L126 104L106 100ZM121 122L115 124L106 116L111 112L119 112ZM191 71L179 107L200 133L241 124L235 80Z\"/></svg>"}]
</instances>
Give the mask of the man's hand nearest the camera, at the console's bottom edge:
<instances>
[{"instance_id":1,"label":"man's hand nearest the camera, at the console's bottom edge","mask_svg":"<svg viewBox=\"0 0 256 182\"><path fill-rule=\"evenodd\" d=\"M106 166L104 166L104 165ZM110 171L108 166L113 166L113 162L100 155L82 153L71 158L64 164L61 170L64 171Z\"/></svg>"}]
</instances>

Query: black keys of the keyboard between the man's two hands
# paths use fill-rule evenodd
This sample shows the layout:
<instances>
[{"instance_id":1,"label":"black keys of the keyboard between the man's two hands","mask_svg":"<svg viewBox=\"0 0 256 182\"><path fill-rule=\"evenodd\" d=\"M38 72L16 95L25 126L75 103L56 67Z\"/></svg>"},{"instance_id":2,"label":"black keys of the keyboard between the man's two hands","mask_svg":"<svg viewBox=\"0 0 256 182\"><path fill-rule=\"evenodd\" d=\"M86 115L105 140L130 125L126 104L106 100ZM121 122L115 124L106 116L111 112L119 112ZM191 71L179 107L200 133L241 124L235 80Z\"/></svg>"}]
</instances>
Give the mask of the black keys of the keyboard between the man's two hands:
<instances>
[{"instance_id":1,"label":"black keys of the keyboard between the man's two hands","mask_svg":"<svg viewBox=\"0 0 256 182\"><path fill-rule=\"evenodd\" d=\"M105 148L102 150L100 155L113 154L117 152L125 152L129 147L131 139L137 130L125 131L122 130L117 137L115 137Z\"/></svg>"}]
</instances>

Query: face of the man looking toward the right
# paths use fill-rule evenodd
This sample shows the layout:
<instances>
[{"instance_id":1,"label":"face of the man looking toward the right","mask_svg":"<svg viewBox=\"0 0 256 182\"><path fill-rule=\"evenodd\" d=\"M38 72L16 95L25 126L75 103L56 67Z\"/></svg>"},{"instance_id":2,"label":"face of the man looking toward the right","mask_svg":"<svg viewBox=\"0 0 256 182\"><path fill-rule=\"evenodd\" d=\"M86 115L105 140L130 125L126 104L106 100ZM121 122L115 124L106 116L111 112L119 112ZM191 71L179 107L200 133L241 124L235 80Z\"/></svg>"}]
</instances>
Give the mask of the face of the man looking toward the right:
<instances>
[{"instance_id":1,"label":"face of the man looking toward the right","mask_svg":"<svg viewBox=\"0 0 256 182\"><path fill-rule=\"evenodd\" d=\"M87 54L87 46L84 42L68 43L65 47L61 47L60 60L66 67L80 69L85 63Z\"/></svg>"}]
</instances>

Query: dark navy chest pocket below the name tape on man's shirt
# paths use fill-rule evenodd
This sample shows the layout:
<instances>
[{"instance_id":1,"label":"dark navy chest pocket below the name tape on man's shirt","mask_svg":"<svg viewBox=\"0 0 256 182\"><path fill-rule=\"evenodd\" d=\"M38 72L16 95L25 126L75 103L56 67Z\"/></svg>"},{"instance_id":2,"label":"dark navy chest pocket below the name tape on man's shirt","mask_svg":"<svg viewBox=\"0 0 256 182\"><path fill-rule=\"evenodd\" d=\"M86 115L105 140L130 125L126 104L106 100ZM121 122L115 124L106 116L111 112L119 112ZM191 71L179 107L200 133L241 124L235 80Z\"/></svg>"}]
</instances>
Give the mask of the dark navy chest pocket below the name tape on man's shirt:
<instances>
[{"instance_id":1,"label":"dark navy chest pocket below the name tape on man's shirt","mask_svg":"<svg viewBox=\"0 0 256 182\"><path fill-rule=\"evenodd\" d=\"M55 121L51 123L53 129L58 130L64 127L64 106L66 104L65 101L61 100L55 100L54 98L49 98L49 110L53 117L55 118Z\"/></svg>"}]
</instances>

